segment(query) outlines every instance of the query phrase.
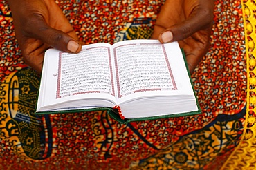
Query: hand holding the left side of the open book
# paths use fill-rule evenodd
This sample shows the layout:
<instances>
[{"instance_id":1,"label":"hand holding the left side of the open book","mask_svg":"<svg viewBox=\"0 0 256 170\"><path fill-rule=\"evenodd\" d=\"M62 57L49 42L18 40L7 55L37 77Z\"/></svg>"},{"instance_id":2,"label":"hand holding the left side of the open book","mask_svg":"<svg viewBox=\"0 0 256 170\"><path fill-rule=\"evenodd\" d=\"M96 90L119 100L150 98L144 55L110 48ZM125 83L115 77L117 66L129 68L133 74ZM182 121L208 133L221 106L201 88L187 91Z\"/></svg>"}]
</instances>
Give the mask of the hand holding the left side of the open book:
<instances>
[{"instance_id":1,"label":"hand holding the left side of the open book","mask_svg":"<svg viewBox=\"0 0 256 170\"><path fill-rule=\"evenodd\" d=\"M75 31L54 0L8 0L24 61L42 72L44 52L55 47L80 52Z\"/></svg>"}]
</instances>

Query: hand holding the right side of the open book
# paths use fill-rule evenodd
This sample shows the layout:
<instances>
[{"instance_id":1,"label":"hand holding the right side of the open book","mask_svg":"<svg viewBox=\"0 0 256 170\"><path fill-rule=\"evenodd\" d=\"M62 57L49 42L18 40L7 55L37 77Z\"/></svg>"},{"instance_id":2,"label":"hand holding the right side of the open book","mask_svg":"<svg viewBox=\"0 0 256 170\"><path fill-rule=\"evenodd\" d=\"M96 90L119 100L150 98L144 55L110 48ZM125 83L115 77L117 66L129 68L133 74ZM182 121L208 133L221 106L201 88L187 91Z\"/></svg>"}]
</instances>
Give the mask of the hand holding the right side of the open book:
<instances>
[{"instance_id":1,"label":"hand holding the right side of the open book","mask_svg":"<svg viewBox=\"0 0 256 170\"><path fill-rule=\"evenodd\" d=\"M161 43L178 41L192 73L208 51L213 10L213 0L166 0L152 39L159 39Z\"/></svg>"}]
</instances>

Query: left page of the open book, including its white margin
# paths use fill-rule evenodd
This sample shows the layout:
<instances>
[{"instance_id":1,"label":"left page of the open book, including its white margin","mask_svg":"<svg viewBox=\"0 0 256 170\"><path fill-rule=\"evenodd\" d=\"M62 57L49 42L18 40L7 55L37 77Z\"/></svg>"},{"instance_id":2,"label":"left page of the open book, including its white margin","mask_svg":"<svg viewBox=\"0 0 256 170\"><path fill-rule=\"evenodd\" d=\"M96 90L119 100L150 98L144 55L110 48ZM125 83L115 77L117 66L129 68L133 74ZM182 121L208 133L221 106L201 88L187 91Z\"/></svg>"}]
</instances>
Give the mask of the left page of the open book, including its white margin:
<instances>
[{"instance_id":1,"label":"left page of the open book, including its white margin","mask_svg":"<svg viewBox=\"0 0 256 170\"><path fill-rule=\"evenodd\" d=\"M51 59L44 65L44 106L83 98L115 100L111 45L86 45L79 54L52 49L45 57Z\"/></svg>"}]
</instances>

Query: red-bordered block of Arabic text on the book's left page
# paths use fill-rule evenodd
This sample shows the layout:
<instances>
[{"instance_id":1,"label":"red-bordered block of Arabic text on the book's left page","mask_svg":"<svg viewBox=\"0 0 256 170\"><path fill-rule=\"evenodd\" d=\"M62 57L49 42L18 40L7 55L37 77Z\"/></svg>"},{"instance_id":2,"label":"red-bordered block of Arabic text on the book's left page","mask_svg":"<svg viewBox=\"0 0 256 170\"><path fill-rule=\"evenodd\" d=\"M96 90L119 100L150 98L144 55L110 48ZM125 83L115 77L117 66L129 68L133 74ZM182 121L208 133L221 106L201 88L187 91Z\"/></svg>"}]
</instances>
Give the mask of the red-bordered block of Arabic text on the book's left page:
<instances>
[{"instance_id":1,"label":"red-bordered block of Arabic text on the book's left page","mask_svg":"<svg viewBox=\"0 0 256 170\"><path fill-rule=\"evenodd\" d=\"M115 96L109 47L84 47L79 54L60 53L57 98L85 93Z\"/></svg>"}]
</instances>

